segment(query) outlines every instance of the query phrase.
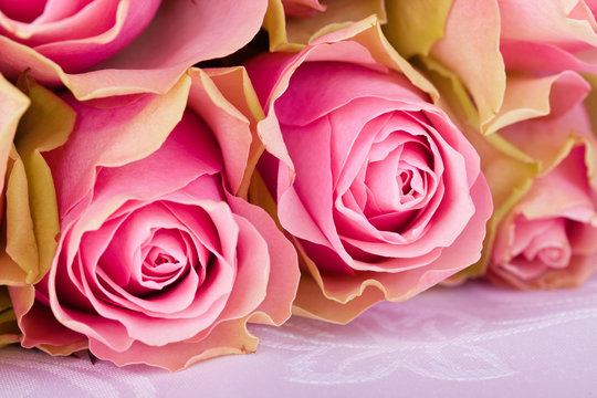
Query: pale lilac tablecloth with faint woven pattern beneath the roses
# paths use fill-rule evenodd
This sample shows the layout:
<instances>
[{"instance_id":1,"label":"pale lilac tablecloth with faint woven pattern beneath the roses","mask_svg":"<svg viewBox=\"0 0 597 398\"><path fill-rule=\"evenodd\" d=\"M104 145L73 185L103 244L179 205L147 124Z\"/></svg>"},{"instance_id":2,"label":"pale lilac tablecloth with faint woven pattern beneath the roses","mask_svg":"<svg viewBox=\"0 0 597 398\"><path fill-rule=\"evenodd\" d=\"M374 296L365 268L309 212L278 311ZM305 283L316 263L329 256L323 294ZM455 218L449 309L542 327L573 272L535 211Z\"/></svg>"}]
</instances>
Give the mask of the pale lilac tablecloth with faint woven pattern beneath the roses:
<instances>
[{"instance_id":1,"label":"pale lilac tablecloth with faint woven pattern beneath the roses","mask_svg":"<svg viewBox=\"0 0 597 398\"><path fill-rule=\"evenodd\" d=\"M176 374L0 349L0 397L597 397L597 277L555 292L469 283L346 326L251 329L256 354Z\"/></svg>"}]
</instances>

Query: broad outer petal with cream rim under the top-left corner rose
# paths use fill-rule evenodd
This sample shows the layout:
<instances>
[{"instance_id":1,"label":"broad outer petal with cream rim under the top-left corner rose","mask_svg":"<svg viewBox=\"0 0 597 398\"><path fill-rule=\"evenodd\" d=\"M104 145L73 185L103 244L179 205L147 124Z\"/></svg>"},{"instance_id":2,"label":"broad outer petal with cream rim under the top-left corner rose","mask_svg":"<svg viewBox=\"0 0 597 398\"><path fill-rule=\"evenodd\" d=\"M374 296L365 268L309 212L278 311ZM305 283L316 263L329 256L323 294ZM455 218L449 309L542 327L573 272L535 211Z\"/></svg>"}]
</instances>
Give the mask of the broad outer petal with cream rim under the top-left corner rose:
<instances>
[{"instance_id":1,"label":"broad outer petal with cream rim under the top-left corner rose","mask_svg":"<svg viewBox=\"0 0 597 398\"><path fill-rule=\"evenodd\" d=\"M30 67L38 81L63 83L82 101L166 93L189 66L247 44L258 32L265 9L265 0L164 1L153 22L130 45L94 71L80 74L65 73L34 50L0 36L0 52L4 54L0 71L15 76Z\"/></svg>"}]
</instances>

